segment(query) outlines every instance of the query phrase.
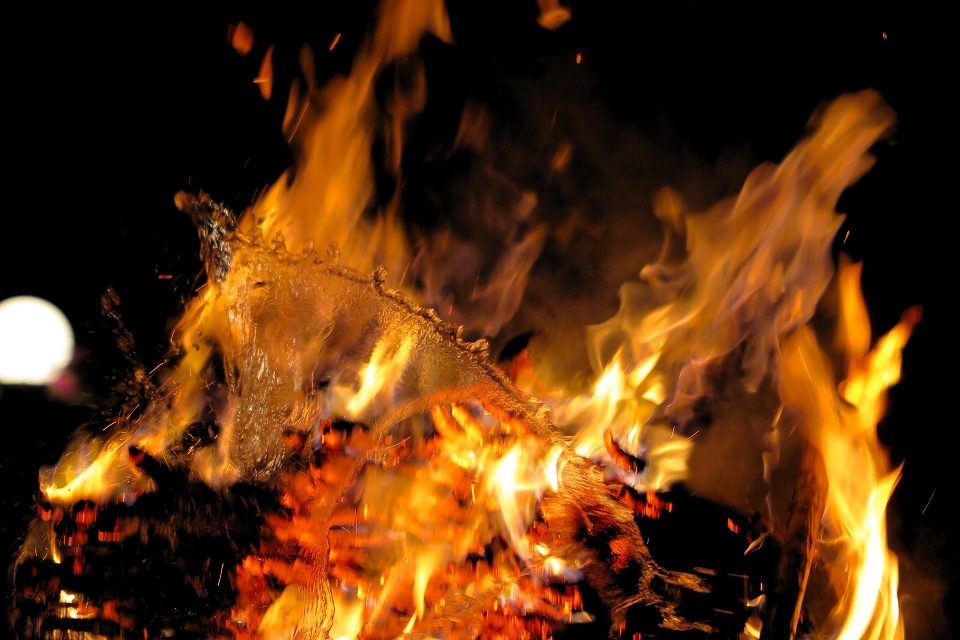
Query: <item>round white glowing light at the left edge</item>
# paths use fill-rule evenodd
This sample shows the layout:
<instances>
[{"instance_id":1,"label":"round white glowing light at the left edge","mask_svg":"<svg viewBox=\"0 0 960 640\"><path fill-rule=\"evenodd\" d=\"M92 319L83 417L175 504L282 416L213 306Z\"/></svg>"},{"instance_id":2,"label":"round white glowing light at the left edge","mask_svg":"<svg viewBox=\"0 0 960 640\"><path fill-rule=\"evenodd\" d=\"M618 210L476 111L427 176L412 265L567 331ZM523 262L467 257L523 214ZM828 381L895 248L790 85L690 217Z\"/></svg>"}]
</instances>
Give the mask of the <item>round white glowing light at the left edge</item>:
<instances>
[{"instance_id":1,"label":"round white glowing light at the left edge","mask_svg":"<svg viewBox=\"0 0 960 640\"><path fill-rule=\"evenodd\" d=\"M59 309L40 298L0 302L0 383L47 384L73 357L73 331Z\"/></svg>"}]
</instances>

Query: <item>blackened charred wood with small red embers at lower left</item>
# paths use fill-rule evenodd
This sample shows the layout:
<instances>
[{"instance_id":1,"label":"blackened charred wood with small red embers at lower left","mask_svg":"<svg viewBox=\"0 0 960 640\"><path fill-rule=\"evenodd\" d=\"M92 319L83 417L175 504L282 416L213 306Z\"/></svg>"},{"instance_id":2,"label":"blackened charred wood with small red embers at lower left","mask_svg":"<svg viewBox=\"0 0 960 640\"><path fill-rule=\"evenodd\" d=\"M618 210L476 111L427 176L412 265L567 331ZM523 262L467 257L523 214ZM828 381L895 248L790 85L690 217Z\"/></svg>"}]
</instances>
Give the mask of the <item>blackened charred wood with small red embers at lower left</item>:
<instances>
[{"instance_id":1,"label":"blackened charred wood with small red embers at lower left","mask_svg":"<svg viewBox=\"0 0 960 640\"><path fill-rule=\"evenodd\" d=\"M243 484L215 492L135 454L156 474L159 491L131 505L41 505L32 529L48 529L60 557L34 548L37 536L28 536L13 568L10 610L21 637L231 635L224 623L236 596L232 568L259 544L264 514L278 508L275 496Z\"/></svg>"}]
</instances>

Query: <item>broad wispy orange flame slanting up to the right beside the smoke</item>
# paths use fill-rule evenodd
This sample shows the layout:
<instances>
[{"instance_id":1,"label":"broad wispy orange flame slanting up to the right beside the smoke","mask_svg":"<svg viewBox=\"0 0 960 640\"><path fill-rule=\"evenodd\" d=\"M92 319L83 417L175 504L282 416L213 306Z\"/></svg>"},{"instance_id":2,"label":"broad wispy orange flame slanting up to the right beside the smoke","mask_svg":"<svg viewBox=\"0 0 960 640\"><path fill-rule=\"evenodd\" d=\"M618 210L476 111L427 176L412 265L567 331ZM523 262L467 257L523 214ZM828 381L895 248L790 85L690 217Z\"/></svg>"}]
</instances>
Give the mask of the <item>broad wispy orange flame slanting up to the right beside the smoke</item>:
<instances>
[{"instance_id":1,"label":"broad wispy orange flame slanting up to the right beside the smoke","mask_svg":"<svg viewBox=\"0 0 960 640\"><path fill-rule=\"evenodd\" d=\"M577 453L615 467L602 439L610 430L648 463L643 474L618 472L627 484L646 491L687 476L688 437L696 434L684 428L696 402L714 394L716 371L742 347L742 384L756 392L776 373L780 342L813 316L834 272L830 252L843 220L836 201L870 168L867 152L891 122L875 92L842 96L815 114L811 134L779 165L757 167L736 197L693 214L673 190L658 194L660 260L643 269L642 282L621 287L614 317L589 330L596 382L587 394L548 396L557 423L577 434Z\"/></svg>"}]
</instances>

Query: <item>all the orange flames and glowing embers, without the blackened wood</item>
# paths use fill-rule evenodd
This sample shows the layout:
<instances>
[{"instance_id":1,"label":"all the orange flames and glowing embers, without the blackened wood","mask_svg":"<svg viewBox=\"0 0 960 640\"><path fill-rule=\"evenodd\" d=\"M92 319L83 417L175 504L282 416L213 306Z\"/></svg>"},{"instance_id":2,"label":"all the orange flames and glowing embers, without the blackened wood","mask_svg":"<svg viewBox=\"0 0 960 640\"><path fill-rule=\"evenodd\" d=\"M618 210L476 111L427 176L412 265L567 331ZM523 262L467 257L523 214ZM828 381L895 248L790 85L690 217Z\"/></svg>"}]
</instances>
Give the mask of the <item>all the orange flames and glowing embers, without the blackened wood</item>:
<instances>
[{"instance_id":1,"label":"all the orange flames and glowing embers, without the blackened wood","mask_svg":"<svg viewBox=\"0 0 960 640\"><path fill-rule=\"evenodd\" d=\"M539 6L546 28L571 18L556 1ZM672 517L661 492L691 479L709 435L697 427L705 402L773 394L779 411L758 419L778 430L764 435L786 439L781 420L798 424L825 468L813 537L837 598L818 631L902 637L885 531L899 471L876 425L920 314L908 311L871 349L859 266L841 262L835 274L831 257L837 199L870 168L869 149L892 123L880 97L838 98L781 163L758 167L736 197L705 212L663 189L654 203L662 256L621 287L615 316L588 329L594 376L584 390L538 376L549 354L535 349L509 365L508 378L486 342L465 341L463 327L419 306L496 334L521 304L547 242L542 226L514 225L489 278L478 276L464 300L448 285L462 284L460 262L479 264L475 249L449 232L408 232L399 191L369 215L377 128L400 177L405 123L424 108L425 71L411 60L427 33L452 41L442 2L387 0L348 77L313 86L306 52L308 86L291 87L284 118L300 150L296 171L239 217L178 194L198 224L207 283L177 324L179 357L146 406L102 441L78 440L41 474L56 520L81 500L106 506L160 491L145 461L217 491L269 487L278 507L264 515L259 546L226 568L236 598L223 624L240 638L549 637L594 619L587 587L621 632L631 607L653 611L667 629L713 632L715 620L699 610L679 612L676 594L705 597L705 576L717 572L659 565L638 523ZM250 52L246 25L229 38ZM271 56L256 80L265 98ZM381 106L375 84L391 64L404 81ZM466 115L469 137L481 118ZM554 169L571 153L558 152ZM524 218L536 198L521 193L511 206ZM839 384L809 325L834 281ZM184 444L198 425L209 437ZM776 448L768 453L772 460ZM74 514L79 533L65 545L44 518L57 564L66 547L82 573L96 514L92 506ZM747 550L759 545L745 521L718 522L723 535L753 543ZM775 514L765 524L784 535ZM118 521L98 540L119 544L137 530ZM743 580L744 611L760 606L748 576L730 576ZM625 593L617 580L634 584ZM108 611L67 590L59 604L65 617ZM748 637L764 637L759 616L741 622Z\"/></svg>"}]
</instances>

